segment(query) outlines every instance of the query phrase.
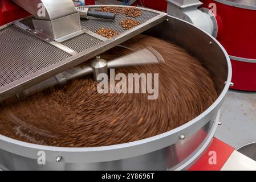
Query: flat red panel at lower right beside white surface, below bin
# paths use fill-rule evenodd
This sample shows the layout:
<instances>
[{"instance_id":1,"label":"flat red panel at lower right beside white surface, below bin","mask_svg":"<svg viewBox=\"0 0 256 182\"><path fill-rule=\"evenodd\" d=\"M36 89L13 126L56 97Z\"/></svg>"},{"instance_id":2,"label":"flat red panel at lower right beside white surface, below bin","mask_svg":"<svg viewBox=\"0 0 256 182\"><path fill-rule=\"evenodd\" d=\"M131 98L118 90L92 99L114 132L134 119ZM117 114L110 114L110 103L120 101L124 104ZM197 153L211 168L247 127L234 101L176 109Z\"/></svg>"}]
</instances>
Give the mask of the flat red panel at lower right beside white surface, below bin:
<instances>
[{"instance_id":1,"label":"flat red panel at lower right beside white surface, below bin","mask_svg":"<svg viewBox=\"0 0 256 182\"><path fill-rule=\"evenodd\" d=\"M196 164L189 168L189 171L220 171L233 151L233 147L230 147L217 138L213 138L213 142L210 144L208 150ZM209 163L209 159L213 156L212 152L216 152L216 164Z\"/></svg>"}]
</instances>

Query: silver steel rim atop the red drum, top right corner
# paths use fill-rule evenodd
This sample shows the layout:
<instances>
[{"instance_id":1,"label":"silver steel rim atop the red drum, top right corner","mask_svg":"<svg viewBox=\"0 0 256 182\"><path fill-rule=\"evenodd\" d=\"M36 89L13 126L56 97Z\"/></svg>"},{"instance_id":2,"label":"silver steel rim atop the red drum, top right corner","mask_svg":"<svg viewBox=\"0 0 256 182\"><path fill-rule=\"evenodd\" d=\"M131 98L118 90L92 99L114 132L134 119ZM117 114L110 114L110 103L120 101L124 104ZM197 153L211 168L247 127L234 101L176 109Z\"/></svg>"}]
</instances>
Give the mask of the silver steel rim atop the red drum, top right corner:
<instances>
[{"instance_id":1,"label":"silver steel rim atop the red drum, top right corner","mask_svg":"<svg viewBox=\"0 0 256 182\"><path fill-rule=\"evenodd\" d=\"M239 7L247 10L256 10L256 2L249 1L248 5L245 3L246 0L214 0L220 2L224 5L229 5L233 7ZM251 3L250 3L251 2Z\"/></svg>"}]
</instances>

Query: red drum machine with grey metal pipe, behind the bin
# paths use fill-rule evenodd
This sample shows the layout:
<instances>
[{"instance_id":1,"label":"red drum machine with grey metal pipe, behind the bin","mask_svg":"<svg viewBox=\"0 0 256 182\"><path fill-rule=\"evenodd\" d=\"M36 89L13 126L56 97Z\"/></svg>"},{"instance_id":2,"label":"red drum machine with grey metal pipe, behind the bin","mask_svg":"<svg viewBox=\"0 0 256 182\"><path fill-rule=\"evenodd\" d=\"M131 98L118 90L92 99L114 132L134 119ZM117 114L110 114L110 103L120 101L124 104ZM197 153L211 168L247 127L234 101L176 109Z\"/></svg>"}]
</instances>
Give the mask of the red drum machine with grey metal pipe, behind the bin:
<instances>
[{"instance_id":1,"label":"red drum machine with grey metal pipe, behind the bin","mask_svg":"<svg viewBox=\"0 0 256 182\"><path fill-rule=\"evenodd\" d=\"M256 90L256 2L251 0L168 0L168 13L213 35L233 68L231 89Z\"/></svg>"}]
</instances>

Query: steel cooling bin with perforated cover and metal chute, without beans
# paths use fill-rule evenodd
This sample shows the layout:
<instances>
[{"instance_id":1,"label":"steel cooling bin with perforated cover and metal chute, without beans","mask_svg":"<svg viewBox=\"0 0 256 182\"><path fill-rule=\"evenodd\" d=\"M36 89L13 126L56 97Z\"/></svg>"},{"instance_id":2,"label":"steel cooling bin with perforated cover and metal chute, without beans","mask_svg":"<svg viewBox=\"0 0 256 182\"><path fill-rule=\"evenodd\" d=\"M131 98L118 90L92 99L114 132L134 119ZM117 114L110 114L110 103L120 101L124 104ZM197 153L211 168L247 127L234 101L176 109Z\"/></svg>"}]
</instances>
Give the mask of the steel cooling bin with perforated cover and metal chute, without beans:
<instances>
[{"instance_id":1,"label":"steel cooling bin with perforated cover and metal chute, without beans","mask_svg":"<svg viewBox=\"0 0 256 182\"><path fill-rule=\"evenodd\" d=\"M120 29L115 20L80 18L71 0L13 0L32 16L16 19L0 27L0 98L55 76L100 53L147 34L172 41L196 56L212 75L217 100L185 125L155 137L114 146L68 148L41 146L0 135L0 168L5 169L88 169L166 170L186 169L194 164L212 141L220 117L220 107L231 82L231 63L225 49L213 36L190 23L151 9L143 11L141 24ZM38 3L46 16L38 16ZM90 6L91 11L99 6ZM21 18L21 17L19 17ZM119 32L106 39L95 30L109 27ZM38 164L38 152L46 154L46 164Z\"/></svg>"}]
</instances>

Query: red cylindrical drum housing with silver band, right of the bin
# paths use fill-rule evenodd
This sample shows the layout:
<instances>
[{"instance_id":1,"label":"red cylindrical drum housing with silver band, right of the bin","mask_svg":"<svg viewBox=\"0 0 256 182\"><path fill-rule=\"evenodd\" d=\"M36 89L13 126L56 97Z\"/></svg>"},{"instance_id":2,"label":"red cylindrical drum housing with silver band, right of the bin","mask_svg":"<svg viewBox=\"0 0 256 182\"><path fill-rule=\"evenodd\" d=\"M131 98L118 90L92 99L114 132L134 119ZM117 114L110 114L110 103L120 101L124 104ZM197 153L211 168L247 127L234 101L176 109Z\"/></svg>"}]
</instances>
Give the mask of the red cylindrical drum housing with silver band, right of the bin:
<instances>
[{"instance_id":1,"label":"red cylindrical drum housing with silver band, right of the bin","mask_svg":"<svg viewBox=\"0 0 256 182\"><path fill-rule=\"evenodd\" d=\"M230 56L233 67L231 89L256 91L256 7L255 10L201 0L203 7L215 3L222 21L218 41Z\"/></svg>"}]
</instances>

